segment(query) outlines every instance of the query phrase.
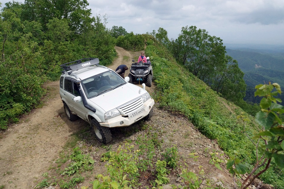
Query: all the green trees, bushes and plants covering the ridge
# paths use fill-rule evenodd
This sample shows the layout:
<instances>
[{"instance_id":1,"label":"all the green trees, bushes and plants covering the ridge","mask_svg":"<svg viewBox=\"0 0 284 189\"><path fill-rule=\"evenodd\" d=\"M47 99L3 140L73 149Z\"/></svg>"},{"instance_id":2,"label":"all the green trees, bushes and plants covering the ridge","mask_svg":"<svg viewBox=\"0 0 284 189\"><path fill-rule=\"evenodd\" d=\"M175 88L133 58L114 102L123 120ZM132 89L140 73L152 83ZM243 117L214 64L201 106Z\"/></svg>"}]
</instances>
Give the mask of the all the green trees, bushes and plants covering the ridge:
<instances>
[{"instance_id":1,"label":"all the green trees, bushes and plants covering the ridge","mask_svg":"<svg viewBox=\"0 0 284 189\"><path fill-rule=\"evenodd\" d=\"M277 104L281 100L274 97L281 93L278 84L256 86L255 95L264 97L261 109L248 105L243 101L246 90L243 72L232 57L225 55L220 38L195 26L183 27L178 39L172 41L163 28L143 35L127 33L122 27L109 30L105 27L106 17L90 17L87 5L86 1L62 5L60 1L28 0L25 4L7 3L2 9L1 129L7 129L9 122L17 122L21 114L40 102L45 94L41 85L58 79L60 64L96 57L102 65L108 65L115 57L115 44L128 50L142 50L146 43L145 53L151 58L155 73L153 97L159 106L186 116L201 133L216 139L231 158L227 168L234 176L251 172L253 177L284 188L284 131L278 116L284 113L284 108ZM256 119L251 115L256 115ZM151 187L161 188L168 183L169 169L178 168L187 188L199 188L202 169L199 174L182 169L184 164L178 163L175 147L165 149L160 159L154 158L153 152L160 145L157 133L147 132L137 139L135 151L125 141L117 151L103 154L101 160L108 162L109 175L97 175L93 188L135 188L139 186L137 178L142 172L154 175ZM146 158L138 158L142 154ZM220 167L217 154L211 155L211 163ZM93 163L77 148L70 156L62 155L62 164L67 158L72 162L64 170L58 169L65 177L64 182L52 181L60 188L71 188L82 182L80 173L90 170ZM38 186L43 188L49 184L47 177ZM246 188L246 183L237 185ZM210 188L210 182L206 186Z\"/></svg>"}]
</instances>

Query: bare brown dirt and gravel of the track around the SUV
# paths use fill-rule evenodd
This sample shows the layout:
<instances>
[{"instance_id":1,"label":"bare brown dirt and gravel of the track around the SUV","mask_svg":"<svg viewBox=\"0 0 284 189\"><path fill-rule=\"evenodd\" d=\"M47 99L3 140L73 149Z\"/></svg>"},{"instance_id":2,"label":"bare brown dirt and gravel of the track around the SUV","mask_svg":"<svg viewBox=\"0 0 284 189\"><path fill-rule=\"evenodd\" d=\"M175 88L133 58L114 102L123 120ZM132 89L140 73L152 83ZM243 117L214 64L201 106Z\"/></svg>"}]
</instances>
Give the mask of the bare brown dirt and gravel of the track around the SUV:
<instances>
[{"instance_id":1,"label":"bare brown dirt and gravel of the track around the SUV","mask_svg":"<svg viewBox=\"0 0 284 189\"><path fill-rule=\"evenodd\" d=\"M116 50L118 58L109 66L113 70L120 64L130 67L131 60L137 61L141 53L129 52L120 47L116 47ZM125 76L128 73L129 70L126 71ZM100 157L101 153L106 152L106 147L96 140L88 123L81 119L74 122L67 119L59 96L59 81L48 82L44 87L48 89L48 94L43 99L43 106L22 116L19 123L9 126L7 131L0 133L0 186L4 188L34 188L44 179L42 175L51 171L49 167L55 166L55 161L60 158L60 153L64 150L66 152L64 145L73 137L73 134L85 130L90 133L91 139L88 136L88 141L85 141L82 136L82 141L79 141L77 146L87 146L96 162L92 174L86 176L84 183L76 188L91 186L90 182L94 180L94 176L105 172ZM146 87L146 90L152 96L155 94L154 85L151 88ZM186 162L190 171L199 174L203 169L204 177L210 179L213 186L233 188L233 179L226 170L225 163L220 164L222 170L209 163L211 159L209 152L222 154L222 150L219 149L215 141L211 141L199 133L188 119L159 109L156 104L154 115L146 121L146 124L157 131L162 131L159 137L163 139L165 146L172 144L177 146L180 161ZM129 135L125 134L128 132L127 129L112 130L112 133L115 134L113 142L108 144L109 148L115 150L125 139L135 141L139 135L145 133L143 130L138 130ZM194 160L192 156L190 157L190 153L194 153L193 157L198 156L198 158ZM225 156L220 158L225 161ZM180 173L179 171L171 171L168 175L171 184L183 185L178 176ZM59 188L59 186L51 188ZM171 187L167 185L165 188Z\"/></svg>"}]
</instances>

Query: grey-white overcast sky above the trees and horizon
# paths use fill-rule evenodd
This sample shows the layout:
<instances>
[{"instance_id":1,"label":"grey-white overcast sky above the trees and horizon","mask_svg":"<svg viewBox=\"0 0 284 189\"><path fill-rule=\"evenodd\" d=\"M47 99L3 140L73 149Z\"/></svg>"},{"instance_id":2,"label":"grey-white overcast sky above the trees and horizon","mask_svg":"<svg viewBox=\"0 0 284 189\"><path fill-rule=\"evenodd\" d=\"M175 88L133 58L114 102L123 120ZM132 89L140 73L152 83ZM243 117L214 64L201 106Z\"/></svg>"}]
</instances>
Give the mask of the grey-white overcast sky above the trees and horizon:
<instances>
[{"instance_id":1,"label":"grey-white overcast sky above the trees and horizon","mask_svg":"<svg viewBox=\"0 0 284 189\"><path fill-rule=\"evenodd\" d=\"M167 30L169 39L176 39L182 27L193 25L205 29L211 36L220 37L223 43L284 44L284 0L88 2L92 16L107 15L107 28L122 26L135 34L162 27Z\"/></svg>"}]
</instances>

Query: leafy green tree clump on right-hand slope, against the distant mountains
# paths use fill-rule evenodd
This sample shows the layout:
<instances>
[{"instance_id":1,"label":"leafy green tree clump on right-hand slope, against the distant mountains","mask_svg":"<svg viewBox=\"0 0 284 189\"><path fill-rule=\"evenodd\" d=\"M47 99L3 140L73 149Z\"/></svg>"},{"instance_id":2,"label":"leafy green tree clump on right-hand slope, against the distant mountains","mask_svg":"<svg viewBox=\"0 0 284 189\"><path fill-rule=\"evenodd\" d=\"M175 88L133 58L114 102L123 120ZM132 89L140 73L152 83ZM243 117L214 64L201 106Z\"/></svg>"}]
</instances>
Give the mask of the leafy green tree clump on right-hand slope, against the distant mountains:
<instances>
[{"instance_id":1,"label":"leafy green tree clump on right-hand slope, against the distant mountains","mask_svg":"<svg viewBox=\"0 0 284 189\"><path fill-rule=\"evenodd\" d=\"M244 97L246 84L237 62L226 56L222 39L196 26L182 27L178 38L169 43L176 60L228 100Z\"/></svg>"}]
</instances>

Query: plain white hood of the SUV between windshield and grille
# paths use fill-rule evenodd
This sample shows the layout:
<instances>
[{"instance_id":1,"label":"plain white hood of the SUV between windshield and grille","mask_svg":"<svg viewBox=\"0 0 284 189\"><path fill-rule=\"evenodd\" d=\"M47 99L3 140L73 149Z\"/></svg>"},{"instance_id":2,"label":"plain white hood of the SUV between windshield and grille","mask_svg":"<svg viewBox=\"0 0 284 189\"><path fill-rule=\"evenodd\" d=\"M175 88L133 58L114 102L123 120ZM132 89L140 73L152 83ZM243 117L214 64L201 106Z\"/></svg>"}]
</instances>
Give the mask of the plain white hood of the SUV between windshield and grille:
<instances>
[{"instance_id":1,"label":"plain white hood of the SUV between windshield and grille","mask_svg":"<svg viewBox=\"0 0 284 189\"><path fill-rule=\"evenodd\" d=\"M127 83L89 100L108 112L109 110L113 110L122 104L142 96L146 92L147 91L141 87Z\"/></svg>"}]
</instances>

